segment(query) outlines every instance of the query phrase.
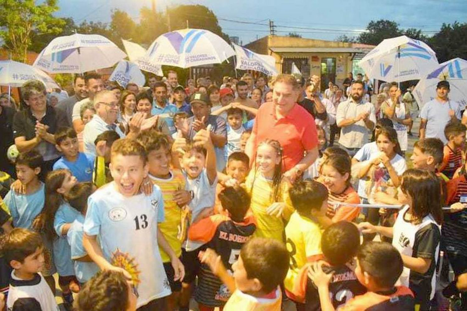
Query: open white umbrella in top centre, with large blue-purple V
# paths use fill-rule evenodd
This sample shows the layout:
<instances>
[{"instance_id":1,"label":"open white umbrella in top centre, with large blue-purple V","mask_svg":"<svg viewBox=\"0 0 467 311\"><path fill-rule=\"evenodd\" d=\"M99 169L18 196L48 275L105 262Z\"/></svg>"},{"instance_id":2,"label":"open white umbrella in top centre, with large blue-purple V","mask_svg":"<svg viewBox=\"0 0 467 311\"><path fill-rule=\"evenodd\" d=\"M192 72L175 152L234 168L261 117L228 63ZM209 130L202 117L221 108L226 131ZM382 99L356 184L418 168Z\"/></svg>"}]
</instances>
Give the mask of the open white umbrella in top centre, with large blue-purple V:
<instances>
[{"instance_id":1,"label":"open white umbrella in top centre, with large blue-purple V","mask_svg":"<svg viewBox=\"0 0 467 311\"><path fill-rule=\"evenodd\" d=\"M146 53L154 64L189 68L219 64L235 55L218 35L204 29L180 29L160 35Z\"/></svg>"}]
</instances>

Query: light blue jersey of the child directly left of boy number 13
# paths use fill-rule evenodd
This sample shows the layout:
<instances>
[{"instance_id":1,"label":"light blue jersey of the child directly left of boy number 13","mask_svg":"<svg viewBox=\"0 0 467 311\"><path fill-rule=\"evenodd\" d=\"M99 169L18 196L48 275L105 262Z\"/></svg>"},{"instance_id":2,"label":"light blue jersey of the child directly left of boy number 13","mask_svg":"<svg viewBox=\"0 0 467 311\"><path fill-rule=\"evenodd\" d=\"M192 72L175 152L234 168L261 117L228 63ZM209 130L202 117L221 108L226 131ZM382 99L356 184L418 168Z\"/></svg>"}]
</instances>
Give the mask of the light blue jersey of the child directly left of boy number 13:
<instances>
[{"instance_id":1,"label":"light blue jersey of the child directly left of boy number 13","mask_svg":"<svg viewBox=\"0 0 467 311\"><path fill-rule=\"evenodd\" d=\"M99 271L98 265L94 262L80 262L76 260L87 255L83 247L84 222L85 217L79 214L66 234L71 248L71 259L73 260L75 276L80 283L86 283Z\"/></svg>"}]
</instances>

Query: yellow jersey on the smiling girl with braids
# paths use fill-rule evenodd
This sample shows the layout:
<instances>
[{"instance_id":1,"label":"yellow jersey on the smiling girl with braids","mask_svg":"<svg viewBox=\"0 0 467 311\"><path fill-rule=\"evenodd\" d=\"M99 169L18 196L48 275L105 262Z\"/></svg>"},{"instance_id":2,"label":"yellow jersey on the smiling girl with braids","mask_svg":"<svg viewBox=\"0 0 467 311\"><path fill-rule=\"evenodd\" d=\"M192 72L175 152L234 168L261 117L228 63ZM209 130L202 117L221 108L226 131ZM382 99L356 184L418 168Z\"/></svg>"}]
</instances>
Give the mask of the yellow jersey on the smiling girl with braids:
<instances>
[{"instance_id":1,"label":"yellow jersey on the smiling girl with braids","mask_svg":"<svg viewBox=\"0 0 467 311\"><path fill-rule=\"evenodd\" d=\"M283 212L283 218L288 220L290 218L290 214L293 212L292 203L290 202L289 197L290 185L287 181L283 180L280 187L280 197L277 201L285 203L286 208ZM268 207L275 202L272 199L272 180L262 177L260 173L256 173L255 176L255 172L252 170L245 182L245 188L251 196L250 208L257 222L256 231L253 236L272 238L283 242L283 220L274 215L269 215L266 212Z\"/></svg>"}]
</instances>

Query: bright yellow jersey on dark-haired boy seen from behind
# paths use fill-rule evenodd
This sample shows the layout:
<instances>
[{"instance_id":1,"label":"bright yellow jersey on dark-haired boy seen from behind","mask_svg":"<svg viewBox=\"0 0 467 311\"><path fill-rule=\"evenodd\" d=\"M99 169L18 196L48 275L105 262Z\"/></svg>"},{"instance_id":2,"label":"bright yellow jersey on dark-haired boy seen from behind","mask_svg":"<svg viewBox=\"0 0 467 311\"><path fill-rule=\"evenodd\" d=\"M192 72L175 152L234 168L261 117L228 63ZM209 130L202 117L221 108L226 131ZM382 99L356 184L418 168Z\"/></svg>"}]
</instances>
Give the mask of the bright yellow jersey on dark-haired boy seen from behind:
<instances>
[{"instance_id":1,"label":"bright yellow jersey on dark-haired boy seen from behind","mask_svg":"<svg viewBox=\"0 0 467 311\"><path fill-rule=\"evenodd\" d=\"M287 296L290 297L289 293L293 295L293 285L299 270L306 262L322 253L321 229L313 220L294 212L285 227L285 238L290 254L290 268L285 277L284 286Z\"/></svg>"}]
</instances>

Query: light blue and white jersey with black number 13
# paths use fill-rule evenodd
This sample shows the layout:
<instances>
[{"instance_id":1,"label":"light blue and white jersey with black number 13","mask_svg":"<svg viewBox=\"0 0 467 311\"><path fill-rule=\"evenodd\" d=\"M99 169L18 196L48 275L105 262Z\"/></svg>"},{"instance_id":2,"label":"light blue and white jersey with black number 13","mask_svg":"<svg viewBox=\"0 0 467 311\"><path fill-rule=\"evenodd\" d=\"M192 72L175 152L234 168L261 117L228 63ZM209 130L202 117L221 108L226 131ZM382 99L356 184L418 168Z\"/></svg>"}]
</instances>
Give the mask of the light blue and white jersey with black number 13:
<instances>
[{"instance_id":1,"label":"light blue and white jersey with black number 13","mask_svg":"<svg viewBox=\"0 0 467 311\"><path fill-rule=\"evenodd\" d=\"M157 185L149 196L124 197L112 182L88 199L84 231L99 236L108 262L129 262L126 270L137 284L138 308L171 293L157 245L157 223L163 221L164 200Z\"/></svg>"}]
</instances>

